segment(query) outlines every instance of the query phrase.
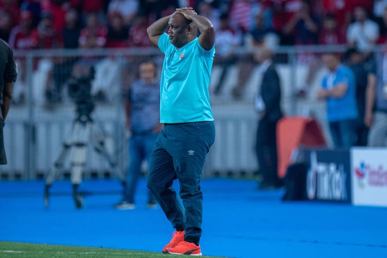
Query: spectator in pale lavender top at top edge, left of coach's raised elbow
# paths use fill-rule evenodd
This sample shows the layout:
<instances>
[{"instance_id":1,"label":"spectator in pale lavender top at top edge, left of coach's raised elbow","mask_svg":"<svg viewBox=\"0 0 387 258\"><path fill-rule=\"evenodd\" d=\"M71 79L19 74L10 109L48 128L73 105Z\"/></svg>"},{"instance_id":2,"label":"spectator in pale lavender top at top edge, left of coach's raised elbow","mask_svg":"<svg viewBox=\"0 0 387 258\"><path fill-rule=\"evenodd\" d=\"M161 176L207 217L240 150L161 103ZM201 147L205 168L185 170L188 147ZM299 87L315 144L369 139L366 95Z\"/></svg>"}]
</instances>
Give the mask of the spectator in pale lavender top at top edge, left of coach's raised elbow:
<instances>
[{"instance_id":1,"label":"spectator in pale lavender top at top edge, left of coach's raised elbow","mask_svg":"<svg viewBox=\"0 0 387 258\"><path fill-rule=\"evenodd\" d=\"M139 12L139 0L112 0L108 5L108 13L119 12L126 26L131 25Z\"/></svg>"}]
</instances>

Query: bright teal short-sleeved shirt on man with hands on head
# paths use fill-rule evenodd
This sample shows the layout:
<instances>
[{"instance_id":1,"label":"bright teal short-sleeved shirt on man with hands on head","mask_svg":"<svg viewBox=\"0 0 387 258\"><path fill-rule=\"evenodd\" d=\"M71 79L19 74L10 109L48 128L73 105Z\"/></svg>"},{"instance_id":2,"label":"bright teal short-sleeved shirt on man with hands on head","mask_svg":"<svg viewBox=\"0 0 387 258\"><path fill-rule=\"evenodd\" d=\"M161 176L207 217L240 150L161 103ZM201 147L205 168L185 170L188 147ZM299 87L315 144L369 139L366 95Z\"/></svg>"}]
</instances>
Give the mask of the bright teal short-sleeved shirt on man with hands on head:
<instances>
[{"instance_id":1,"label":"bright teal short-sleeved shirt on man with hands on head","mask_svg":"<svg viewBox=\"0 0 387 258\"><path fill-rule=\"evenodd\" d=\"M163 33L159 48L165 54L160 82L160 123L214 121L208 85L215 46L206 51L196 37L176 49Z\"/></svg>"}]
</instances>

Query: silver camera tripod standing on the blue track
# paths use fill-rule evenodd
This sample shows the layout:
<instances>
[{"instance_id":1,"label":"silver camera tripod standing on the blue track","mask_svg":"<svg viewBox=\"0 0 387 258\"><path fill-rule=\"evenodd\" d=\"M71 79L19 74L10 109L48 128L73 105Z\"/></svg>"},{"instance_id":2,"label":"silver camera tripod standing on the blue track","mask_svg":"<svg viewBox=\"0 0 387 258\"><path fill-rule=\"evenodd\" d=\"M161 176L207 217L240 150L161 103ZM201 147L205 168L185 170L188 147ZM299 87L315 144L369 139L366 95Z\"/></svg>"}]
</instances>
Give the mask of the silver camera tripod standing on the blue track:
<instances>
[{"instance_id":1,"label":"silver camera tripod standing on the blue track","mask_svg":"<svg viewBox=\"0 0 387 258\"><path fill-rule=\"evenodd\" d=\"M83 196L79 192L78 187L82 182L82 172L86 163L89 144L92 144L94 150L106 159L111 169L121 180L121 183L123 185L125 184L124 175L120 173L117 165L114 163L105 147L102 128L95 125L94 121L90 117L90 114L78 115L72 124L70 137L63 143L62 150L47 175L44 191L44 202L46 208L49 203L50 187L55 181L55 177L58 172L63 168L66 157L70 151L72 197L76 208L81 209L83 207Z\"/></svg>"}]
</instances>

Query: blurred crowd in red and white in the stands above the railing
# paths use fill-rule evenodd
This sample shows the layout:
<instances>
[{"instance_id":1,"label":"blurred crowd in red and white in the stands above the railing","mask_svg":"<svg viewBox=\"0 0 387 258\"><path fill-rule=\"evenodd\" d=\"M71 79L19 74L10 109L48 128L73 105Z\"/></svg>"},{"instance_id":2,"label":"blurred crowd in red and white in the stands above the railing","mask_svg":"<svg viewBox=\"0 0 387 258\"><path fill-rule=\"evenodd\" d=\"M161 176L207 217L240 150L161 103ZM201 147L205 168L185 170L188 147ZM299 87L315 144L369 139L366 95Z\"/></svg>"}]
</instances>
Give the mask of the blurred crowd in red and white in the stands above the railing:
<instances>
[{"instance_id":1,"label":"blurred crowd in red and white in the stands above the railing","mask_svg":"<svg viewBox=\"0 0 387 258\"><path fill-rule=\"evenodd\" d=\"M385 0L1 0L0 37L15 49L147 47L146 27L182 6L231 33L231 46L271 40L365 50L387 39Z\"/></svg>"}]
</instances>

